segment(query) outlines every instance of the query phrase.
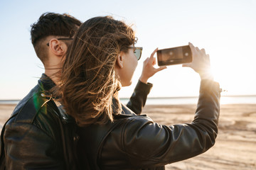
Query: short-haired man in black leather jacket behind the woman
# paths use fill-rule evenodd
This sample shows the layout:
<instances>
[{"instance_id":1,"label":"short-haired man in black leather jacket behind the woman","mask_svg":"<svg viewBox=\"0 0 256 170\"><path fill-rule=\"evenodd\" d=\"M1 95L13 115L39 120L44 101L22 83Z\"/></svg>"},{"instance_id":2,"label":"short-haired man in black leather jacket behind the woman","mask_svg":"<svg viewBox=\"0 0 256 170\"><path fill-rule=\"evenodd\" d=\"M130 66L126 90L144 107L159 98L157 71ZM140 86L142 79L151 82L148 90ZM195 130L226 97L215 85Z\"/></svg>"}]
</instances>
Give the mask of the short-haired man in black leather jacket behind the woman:
<instances>
[{"instance_id":1,"label":"short-haired man in black leather jacket behind the woman","mask_svg":"<svg viewBox=\"0 0 256 170\"><path fill-rule=\"evenodd\" d=\"M45 73L2 129L0 169L79 169L75 153L77 125L50 89L58 84L61 63L80 25L78 19L67 14L43 13L31 26L31 41ZM154 63L148 61L127 104L137 114L151 89L147 79L165 68L154 69Z\"/></svg>"}]
</instances>

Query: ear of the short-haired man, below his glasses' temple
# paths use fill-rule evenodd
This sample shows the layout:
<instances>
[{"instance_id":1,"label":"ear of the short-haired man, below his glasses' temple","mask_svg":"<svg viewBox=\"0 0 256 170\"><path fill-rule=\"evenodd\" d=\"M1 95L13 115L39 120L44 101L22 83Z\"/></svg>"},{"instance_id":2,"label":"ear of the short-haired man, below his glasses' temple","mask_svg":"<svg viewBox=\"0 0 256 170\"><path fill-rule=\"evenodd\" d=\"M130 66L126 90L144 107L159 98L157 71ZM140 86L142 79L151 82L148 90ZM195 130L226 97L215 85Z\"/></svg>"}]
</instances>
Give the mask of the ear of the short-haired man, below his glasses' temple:
<instances>
[{"instance_id":1,"label":"ear of the short-haired man, below his glasses' temple","mask_svg":"<svg viewBox=\"0 0 256 170\"><path fill-rule=\"evenodd\" d=\"M62 42L53 38L49 42L50 51L53 52L54 55L63 57L68 50L68 46Z\"/></svg>"}]
</instances>

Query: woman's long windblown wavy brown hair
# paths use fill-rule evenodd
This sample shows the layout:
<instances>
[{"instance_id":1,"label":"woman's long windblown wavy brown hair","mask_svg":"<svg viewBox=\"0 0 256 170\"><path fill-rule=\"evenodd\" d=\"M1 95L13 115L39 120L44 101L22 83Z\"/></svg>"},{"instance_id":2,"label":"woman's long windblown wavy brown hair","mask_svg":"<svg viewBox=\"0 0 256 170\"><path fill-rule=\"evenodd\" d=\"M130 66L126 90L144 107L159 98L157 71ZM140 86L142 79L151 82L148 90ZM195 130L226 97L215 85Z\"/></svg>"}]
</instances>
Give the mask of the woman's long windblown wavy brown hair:
<instances>
[{"instance_id":1,"label":"woman's long windblown wavy brown hair","mask_svg":"<svg viewBox=\"0 0 256 170\"><path fill-rule=\"evenodd\" d=\"M90 18L80 26L60 81L65 111L78 125L106 123L121 113L114 65L119 52L127 52L134 42L134 30L110 16Z\"/></svg>"}]
</instances>

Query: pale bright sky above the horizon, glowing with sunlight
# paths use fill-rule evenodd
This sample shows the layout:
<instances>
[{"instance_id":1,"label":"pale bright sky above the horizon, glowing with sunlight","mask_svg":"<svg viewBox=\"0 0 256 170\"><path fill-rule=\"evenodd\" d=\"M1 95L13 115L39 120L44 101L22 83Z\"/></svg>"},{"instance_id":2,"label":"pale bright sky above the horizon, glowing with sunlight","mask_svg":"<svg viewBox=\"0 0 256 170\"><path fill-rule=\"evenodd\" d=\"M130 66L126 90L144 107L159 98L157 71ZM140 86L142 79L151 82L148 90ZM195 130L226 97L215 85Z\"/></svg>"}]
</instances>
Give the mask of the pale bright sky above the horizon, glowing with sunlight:
<instances>
[{"instance_id":1,"label":"pale bright sky above the horizon, glowing with sunlight","mask_svg":"<svg viewBox=\"0 0 256 170\"><path fill-rule=\"evenodd\" d=\"M133 83L120 97L129 97L143 61L159 49L193 45L206 49L215 81L223 95L256 95L256 0L181 1L7 1L0 0L0 100L21 99L44 72L30 39L31 24L42 13L69 13L80 21L113 16L133 25L143 47ZM157 65L156 65L157 67ZM149 97L198 96L200 77L181 64L149 79Z\"/></svg>"}]
</instances>

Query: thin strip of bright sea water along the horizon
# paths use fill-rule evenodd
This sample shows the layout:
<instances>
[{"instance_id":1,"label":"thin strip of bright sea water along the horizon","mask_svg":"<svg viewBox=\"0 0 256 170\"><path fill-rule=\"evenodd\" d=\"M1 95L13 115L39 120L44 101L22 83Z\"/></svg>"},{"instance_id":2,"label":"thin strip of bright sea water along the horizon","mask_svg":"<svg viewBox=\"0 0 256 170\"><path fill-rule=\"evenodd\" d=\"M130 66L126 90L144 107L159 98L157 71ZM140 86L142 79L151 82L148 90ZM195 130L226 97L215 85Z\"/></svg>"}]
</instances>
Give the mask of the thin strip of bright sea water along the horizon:
<instances>
[{"instance_id":1,"label":"thin strip of bright sea water along the horizon","mask_svg":"<svg viewBox=\"0 0 256 170\"><path fill-rule=\"evenodd\" d=\"M129 98L120 98L122 103L127 103ZM18 104L20 100L0 100L0 104ZM198 96L187 97L159 97L146 99L146 105L186 105L196 104ZM256 95L252 96L221 96L220 104L256 104Z\"/></svg>"}]
</instances>

